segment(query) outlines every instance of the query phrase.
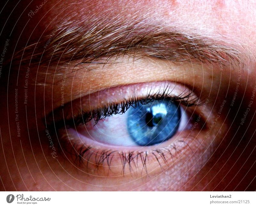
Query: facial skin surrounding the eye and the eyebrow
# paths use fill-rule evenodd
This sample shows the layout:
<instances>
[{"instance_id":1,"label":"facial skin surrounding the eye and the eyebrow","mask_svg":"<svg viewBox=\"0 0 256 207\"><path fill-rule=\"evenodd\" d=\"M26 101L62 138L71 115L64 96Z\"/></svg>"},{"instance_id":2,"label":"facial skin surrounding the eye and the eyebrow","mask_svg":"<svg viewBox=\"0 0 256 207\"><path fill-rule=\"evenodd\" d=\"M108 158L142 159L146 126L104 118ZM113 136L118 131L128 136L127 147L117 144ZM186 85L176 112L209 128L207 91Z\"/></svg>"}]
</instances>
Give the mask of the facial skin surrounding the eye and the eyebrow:
<instances>
[{"instance_id":1,"label":"facial skin surrounding the eye and the eyebrow","mask_svg":"<svg viewBox=\"0 0 256 207\"><path fill-rule=\"evenodd\" d=\"M209 137L204 138L209 128L193 132L186 139L190 148L181 146L174 160L168 156L168 165L163 169L154 160L148 165L148 175L121 175L116 168L113 174L102 170L94 171L83 164L77 165L69 153L59 150L57 158L52 158L52 148L46 136L44 114L50 113L61 105L60 81L61 75L56 75L56 67L50 66L47 71L42 66L30 67L28 79L28 103L24 101L24 84L28 65L19 65L9 69L1 76L1 163L0 189L36 191L39 188L48 190L256 190L255 181L255 124L254 116L256 100L250 107L250 112L243 125L240 125L243 114L248 108L253 88L256 85L255 58L256 49L256 4L253 2L211 1L207 4L201 1L119 1L114 7L111 1L103 1L91 5L87 1L47 2L28 22L28 12L34 11L42 1L33 1L27 8L24 2L19 12L13 12L10 18L19 18L12 33L12 43L8 48L8 56L19 50L26 43L37 40L42 31L49 34L65 18L75 11L73 18L90 17L91 13L105 12L108 16L117 14L133 15L139 12L142 17L152 16L153 23L164 22L172 28L176 26L183 31L196 31L197 34L221 40L226 46L235 47L241 52L243 70L239 90L234 106L231 100L234 96L239 67L227 67L220 70L216 64L182 63L174 64L164 60L142 58L133 62L124 57L121 63L86 71L71 73L65 82L65 104L71 100L86 97L103 89L122 87L129 84L170 81L176 82L193 90L203 98L209 96L210 103L204 111L206 126L209 127L218 115L225 100L215 127ZM72 4L74 3L74 4ZM67 6L71 5L70 7ZM7 5L7 8L12 8ZM85 9L86 8L86 9ZM112 11L110 14L108 10ZM5 12L8 11L7 9ZM20 11L24 11L20 14ZM88 13L90 11L91 13ZM52 21L56 14L59 18ZM188 21L189 19L189 21ZM12 29L12 28L11 28ZM4 28L3 36L9 34L10 28ZM5 41L6 39L3 38ZM3 42L4 42L3 41ZM17 46L16 46L17 43ZM15 48L15 46L17 48ZM63 73L60 65L58 73ZM170 70L171 68L171 70ZM150 71L150 72L149 72ZM55 75L54 75L55 73ZM143 74L143 75L141 75ZM18 85L17 83L18 78ZM118 78L116 78L118 77ZM93 78L93 81L90 81ZM46 84L45 84L46 80ZM15 121L15 89L18 88L18 110L20 120L20 137L17 136ZM8 89L8 90L7 90ZM71 90L72 89L72 90ZM227 97L226 97L227 94ZM202 99L203 100L203 99ZM203 106L188 109L200 114ZM230 111L229 111L230 109ZM27 113L26 113L27 112ZM237 130L238 129L238 130ZM53 135L51 135L54 137ZM174 143L179 138L186 137L186 132L173 140L162 143L164 146ZM62 149L58 142L54 147ZM175 152L173 152L175 154ZM104 167L102 167L104 168ZM138 169L141 172L141 169ZM146 176L147 175L147 176Z\"/></svg>"}]
</instances>

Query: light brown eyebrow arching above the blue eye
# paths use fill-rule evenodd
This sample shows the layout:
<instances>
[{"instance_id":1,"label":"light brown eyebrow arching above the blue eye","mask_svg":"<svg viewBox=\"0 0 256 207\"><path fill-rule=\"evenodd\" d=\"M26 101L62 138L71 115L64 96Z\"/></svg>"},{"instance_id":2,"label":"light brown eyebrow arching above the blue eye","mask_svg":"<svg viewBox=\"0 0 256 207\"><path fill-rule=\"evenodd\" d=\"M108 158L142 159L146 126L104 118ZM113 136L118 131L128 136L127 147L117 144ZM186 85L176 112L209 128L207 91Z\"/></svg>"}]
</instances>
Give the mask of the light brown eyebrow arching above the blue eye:
<instances>
[{"instance_id":1,"label":"light brown eyebrow arching above the blue eye","mask_svg":"<svg viewBox=\"0 0 256 207\"><path fill-rule=\"evenodd\" d=\"M200 35L143 21L94 18L83 25L68 22L58 26L51 35L28 45L16 55L16 60L29 64L60 64L80 61L105 62L121 55L151 57L173 62L226 63L236 60L240 52ZM170 28L169 28L170 30ZM106 59L107 58L107 59Z\"/></svg>"}]
</instances>

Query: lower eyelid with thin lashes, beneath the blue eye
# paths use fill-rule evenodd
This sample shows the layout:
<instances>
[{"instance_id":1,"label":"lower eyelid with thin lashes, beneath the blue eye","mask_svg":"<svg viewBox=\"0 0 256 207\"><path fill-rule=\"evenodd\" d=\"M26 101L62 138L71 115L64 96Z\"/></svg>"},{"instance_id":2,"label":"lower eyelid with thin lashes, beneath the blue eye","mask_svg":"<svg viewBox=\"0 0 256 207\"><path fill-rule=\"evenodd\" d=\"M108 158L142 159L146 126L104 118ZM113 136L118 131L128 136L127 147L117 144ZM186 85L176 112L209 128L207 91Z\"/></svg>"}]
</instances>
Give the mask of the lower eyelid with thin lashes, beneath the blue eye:
<instances>
[{"instance_id":1,"label":"lower eyelid with thin lashes, beneath the blue eye","mask_svg":"<svg viewBox=\"0 0 256 207\"><path fill-rule=\"evenodd\" d=\"M118 150L109 148L95 147L95 145L86 145L83 142L77 143L77 137L61 137L65 143L65 148L69 152L68 159L76 160L77 166L88 174L97 176L143 176L155 173L161 173L177 159L188 158L188 153L193 153L193 148L199 145L195 141L194 132L182 132L174 141L165 141L164 146L146 147L147 151L140 149ZM192 142L194 142L192 144ZM68 143L68 146L67 146ZM196 143L196 144L195 144ZM193 146L193 147L192 147Z\"/></svg>"}]
</instances>

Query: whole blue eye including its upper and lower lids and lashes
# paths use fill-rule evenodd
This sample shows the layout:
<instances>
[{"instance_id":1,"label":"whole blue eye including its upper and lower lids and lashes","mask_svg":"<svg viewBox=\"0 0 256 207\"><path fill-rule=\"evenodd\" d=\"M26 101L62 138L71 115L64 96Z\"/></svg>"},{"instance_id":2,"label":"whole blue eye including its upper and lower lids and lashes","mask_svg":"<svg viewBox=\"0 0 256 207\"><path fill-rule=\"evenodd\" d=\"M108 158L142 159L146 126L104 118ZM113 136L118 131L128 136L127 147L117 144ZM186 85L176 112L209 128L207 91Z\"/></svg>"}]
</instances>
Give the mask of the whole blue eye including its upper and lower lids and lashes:
<instances>
[{"instance_id":1,"label":"whole blue eye including its upper and lower lids and lashes","mask_svg":"<svg viewBox=\"0 0 256 207\"><path fill-rule=\"evenodd\" d=\"M201 102L173 82L110 87L54 110L48 128L56 131L65 156L87 172L150 174L198 147Z\"/></svg>"}]
</instances>

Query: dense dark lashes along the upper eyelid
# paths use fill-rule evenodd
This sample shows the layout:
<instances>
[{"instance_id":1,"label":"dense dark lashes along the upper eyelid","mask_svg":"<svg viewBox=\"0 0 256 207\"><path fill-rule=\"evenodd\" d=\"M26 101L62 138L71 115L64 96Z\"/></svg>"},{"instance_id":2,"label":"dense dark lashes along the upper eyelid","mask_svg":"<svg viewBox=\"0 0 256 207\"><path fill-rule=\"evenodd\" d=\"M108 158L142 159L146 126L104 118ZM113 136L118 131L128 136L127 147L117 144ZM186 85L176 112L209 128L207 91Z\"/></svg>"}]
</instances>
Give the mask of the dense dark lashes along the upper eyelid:
<instances>
[{"instance_id":1,"label":"dense dark lashes along the upper eyelid","mask_svg":"<svg viewBox=\"0 0 256 207\"><path fill-rule=\"evenodd\" d=\"M116 115L116 114L124 114L130 107L137 107L140 104L147 104L149 102L153 102L155 100L163 100L170 99L172 102L182 101L184 105L187 107L197 106L199 98L195 97L192 100L189 100L193 92L183 91L178 96L169 97L171 92L169 92L168 85L164 87L164 91L160 92L160 89L157 92L151 93L152 88L147 93L144 98L136 98L135 91L133 92L132 98L128 100L123 100L119 103L109 103L108 106L99 107L98 109L94 109L92 111L82 111L71 118L65 118L65 127L70 128L80 124L86 124L90 122L92 119L94 120L94 124L97 124L100 120L105 119L108 116ZM185 95L187 94L187 95Z\"/></svg>"}]
</instances>

